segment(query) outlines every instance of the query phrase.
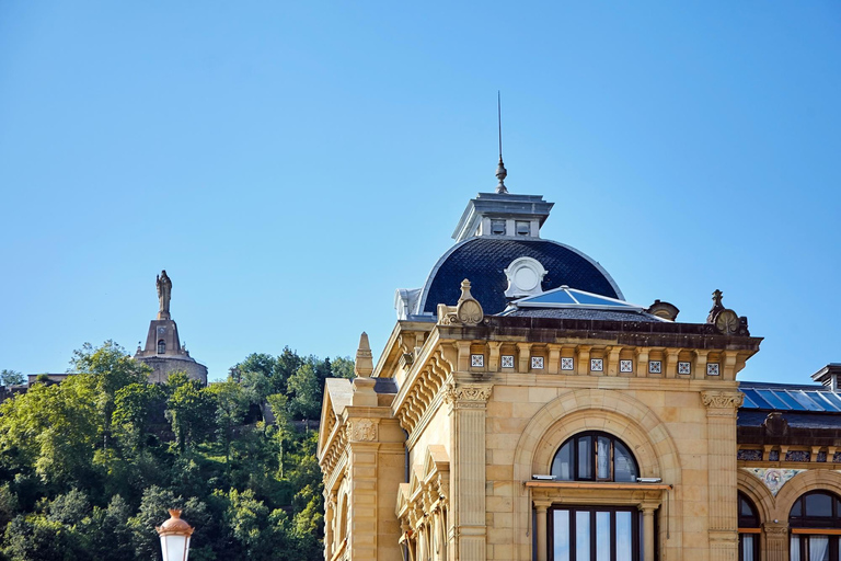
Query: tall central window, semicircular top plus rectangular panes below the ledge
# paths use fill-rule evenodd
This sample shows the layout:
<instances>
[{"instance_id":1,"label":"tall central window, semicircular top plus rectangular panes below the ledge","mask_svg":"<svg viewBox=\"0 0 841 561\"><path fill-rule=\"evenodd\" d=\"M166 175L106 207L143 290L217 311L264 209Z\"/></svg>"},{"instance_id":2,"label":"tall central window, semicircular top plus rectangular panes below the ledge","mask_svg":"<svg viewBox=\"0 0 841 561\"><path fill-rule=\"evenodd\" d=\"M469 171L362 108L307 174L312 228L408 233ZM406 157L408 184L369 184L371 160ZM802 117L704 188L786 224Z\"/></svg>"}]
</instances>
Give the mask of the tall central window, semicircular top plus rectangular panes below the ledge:
<instances>
[{"instance_id":1,"label":"tall central window, semicircular top plus rectangular panes below the ledge","mask_svg":"<svg viewBox=\"0 0 841 561\"><path fill-rule=\"evenodd\" d=\"M552 474L561 481L636 482L640 469L622 440L591 431L561 445L552 460ZM556 505L549 515L553 561L643 559L642 513L636 506Z\"/></svg>"}]
</instances>

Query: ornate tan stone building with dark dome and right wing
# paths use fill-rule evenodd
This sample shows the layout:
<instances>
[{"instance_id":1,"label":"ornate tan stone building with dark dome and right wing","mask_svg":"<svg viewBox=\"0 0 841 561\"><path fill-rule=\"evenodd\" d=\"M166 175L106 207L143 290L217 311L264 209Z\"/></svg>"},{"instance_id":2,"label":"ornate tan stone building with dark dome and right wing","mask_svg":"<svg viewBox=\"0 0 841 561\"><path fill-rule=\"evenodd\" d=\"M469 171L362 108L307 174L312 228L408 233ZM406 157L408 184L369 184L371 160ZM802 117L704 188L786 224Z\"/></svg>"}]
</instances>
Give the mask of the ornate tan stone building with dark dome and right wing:
<instances>
[{"instance_id":1,"label":"ornate tan stone building with dark dome and right wing","mask_svg":"<svg viewBox=\"0 0 841 561\"><path fill-rule=\"evenodd\" d=\"M838 560L841 366L740 390L761 339L721 291L626 301L500 170L378 364L364 334L327 380L325 559Z\"/></svg>"}]
</instances>

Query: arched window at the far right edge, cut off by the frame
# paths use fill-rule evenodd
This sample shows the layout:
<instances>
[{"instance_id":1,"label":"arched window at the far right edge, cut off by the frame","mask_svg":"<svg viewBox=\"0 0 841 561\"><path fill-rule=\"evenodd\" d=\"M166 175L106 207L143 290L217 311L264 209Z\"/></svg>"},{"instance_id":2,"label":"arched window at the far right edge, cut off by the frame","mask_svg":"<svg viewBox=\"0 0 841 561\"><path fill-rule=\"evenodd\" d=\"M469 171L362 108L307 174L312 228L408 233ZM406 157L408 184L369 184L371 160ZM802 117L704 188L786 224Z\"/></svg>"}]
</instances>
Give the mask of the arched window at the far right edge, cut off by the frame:
<instances>
[{"instance_id":1,"label":"arched window at the far right edge, cut off by the frame","mask_svg":"<svg viewBox=\"0 0 841 561\"><path fill-rule=\"evenodd\" d=\"M802 495L792 506L790 561L829 561L838 559L841 529L841 500L826 491Z\"/></svg>"}]
</instances>

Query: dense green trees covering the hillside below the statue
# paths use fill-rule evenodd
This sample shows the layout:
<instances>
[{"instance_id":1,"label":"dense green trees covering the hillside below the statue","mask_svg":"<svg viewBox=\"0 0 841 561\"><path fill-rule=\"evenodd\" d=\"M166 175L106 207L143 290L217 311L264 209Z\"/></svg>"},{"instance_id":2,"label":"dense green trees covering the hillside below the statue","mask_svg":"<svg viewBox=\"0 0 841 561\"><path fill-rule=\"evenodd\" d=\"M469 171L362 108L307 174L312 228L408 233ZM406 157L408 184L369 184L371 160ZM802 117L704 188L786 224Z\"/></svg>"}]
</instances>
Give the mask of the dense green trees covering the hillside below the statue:
<instances>
[{"instance_id":1,"label":"dense green trees covering the hillside below the statue","mask_svg":"<svg viewBox=\"0 0 841 561\"><path fill-rule=\"evenodd\" d=\"M227 381L148 383L115 343L0 405L0 559L160 560L180 507L192 561L322 559L316 423L347 358L253 354Z\"/></svg>"}]
</instances>

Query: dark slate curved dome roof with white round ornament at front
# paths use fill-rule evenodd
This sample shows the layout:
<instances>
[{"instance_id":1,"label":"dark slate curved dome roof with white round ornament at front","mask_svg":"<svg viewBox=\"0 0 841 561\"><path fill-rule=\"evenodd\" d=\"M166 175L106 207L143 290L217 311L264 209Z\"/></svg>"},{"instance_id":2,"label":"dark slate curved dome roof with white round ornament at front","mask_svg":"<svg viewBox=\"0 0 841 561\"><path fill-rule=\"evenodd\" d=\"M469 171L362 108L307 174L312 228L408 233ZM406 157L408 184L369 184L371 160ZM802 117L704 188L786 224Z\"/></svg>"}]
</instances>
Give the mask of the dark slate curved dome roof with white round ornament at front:
<instances>
[{"instance_id":1,"label":"dark slate curved dome roof with white round ornament at front","mask_svg":"<svg viewBox=\"0 0 841 561\"><path fill-rule=\"evenodd\" d=\"M438 260L424 285L419 312L435 314L439 304L454 306L464 278L470 280L470 291L486 314L502 312L508 305L505 270L523 256L539 261L546 270L541 285L544 291L567 285L624 300L608 272L574 248L551 240L480 236L457 243Z\"/></svg>"}]
</instances>

